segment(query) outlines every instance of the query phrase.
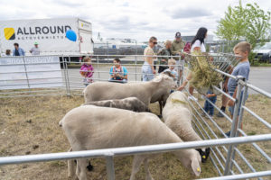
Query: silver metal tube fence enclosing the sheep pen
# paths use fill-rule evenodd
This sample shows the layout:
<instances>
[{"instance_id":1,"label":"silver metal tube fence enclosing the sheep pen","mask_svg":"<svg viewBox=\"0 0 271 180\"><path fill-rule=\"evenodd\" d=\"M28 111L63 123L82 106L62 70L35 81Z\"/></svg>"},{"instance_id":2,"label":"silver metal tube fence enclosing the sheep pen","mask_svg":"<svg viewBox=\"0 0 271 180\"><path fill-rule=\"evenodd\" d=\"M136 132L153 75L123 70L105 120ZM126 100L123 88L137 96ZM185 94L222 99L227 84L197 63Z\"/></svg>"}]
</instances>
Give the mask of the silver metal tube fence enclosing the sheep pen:
<instances>
[{"instance_id":1,"label":"silver metal tube fence enclosing the sheep pen","mask_svg":"<svg viewBox=\"0 0 271 180\"><path fill-rule=\"evenodd\" d=\"M224 56L228 56L227 54L224 54ZM67 95L81 95L81 91L85 87L83 85L82 80L83 77L79 76L79 66L81 65L81 62L79 61L72 61L71 57L65 58L63 55L59 56L61 59L60 66L61 66L61 77L59 76L51 76L51 79L61 79L61 81L55 81L58 83L63 83L63 85L56 85L56 86L48 86L48 88L43 89L37 89L33 88L32 83L30 80L33 79L39 79L42 80L42 78L30 78L29 73L34 72L33 69L29 70L27 66L29 65L29 62L25 61L25 57L23 57L23 62L18 63L18 65L23 65L23 73L25 75L25 78L17 78L15 80L20 81L20 79L25 80L26 82L24 84L20 83L14 83L10 85L27 85L25 89L21 91L12 91L12 90L2 90L0 92L0 98L6 98L6 97L22 97L22 96L41 96L41 95L59 95L59 94L67 94ZM105 57L105 55L95 55L95 58L93 59L93 66L95 66L96 70L93 76L94 81L107 81L109 77L109 67L113 65L113 63L110 63L110 61L113 60L113 58L119 57L119 55L108 55L107 52L107 59L103 59L102 57ZM232 55L230 55L232 58ZM125 66L129 69L129 82L130 83L136 83L138 81L141 81L141 67L143 66L144 62L144 56L143 55L126 55L123 56L124 58L123 62ZM171 57L169 57L171 58ZM181 56L176 56L174 58L179 58L180 63L176 65L176 69L178 72L181 72L182 70L182 77L178 79L178 83L182 83L183 79L185 78L185 73L187 69L187 59L181 60ZM127 60L126 60L127 59ZM1 60L1 58L0 58ZM34 65L35 63L33 63ZM39 64L39 63L37 63ZM50 64L50 63L40 63L40 64ZM235 66L235 64L232 64ZM9 67L12 65L1 65L0 67ZM72 68L75 67L75 68ZM152 153L152 152L166 152L166 151L172 151L176 149L181 148L201 148L201 147L214 147L211 148L212 155L210 155L210 160L212 161L213 165L216 167L218 173L220 175L227 175L222 177L215 177L213 179L238 179L238 178L248 178L248 177L259 177L264 175L270 175L270 171L265 172L256 172L255 167L251 166L249 163L249 160L247 157L238 149L237 145L240 143L251 143L253 148L256 148L257 151L260 153L261 156L265 157L268 162L270 163L270 157L268 154L260 148L257 145L257 141L259 140L270 140L271 134L267 135L258 135L258 136L247 136L245 131L240 129L240 123L243 118L243 112L249 112L251 115L255 117L255 119L262 123L270 130L270 123L268 123L266 120L260 117L259 114L251 111L248 109L247 106L245 106L245 98L246 94L248 94L248 89L253 89L257 91L259 94L263 94L268 98L271 98L271 94L267 93L266 91L263 91L262 89L250 85L248 82L244 82L242 77L238 76L231 76L227 72L225 72L224 66L220 66L220 69L214 69L218 73L220 73L223 76L229 76L230 78L234 78L238 80L238 94L237 98L232 98L229 96L229 94L225 94L225 92L221 91L219 87L214 87L217 89L221 94L224 94L229 97L229 99L233 100L237 105L234 108L234 114L233 119L231 119L226 113L221 112L220 108L216 106L215 104L211 103L209 99L205 97L206 101L209 101L214 107L221 112L225 118L231 123L231 134L229 139L219 139L219 134L216 132L217 130L225 137L225 133L223 132L220 125L214 121L212 117L210 117L206 112L203 111L201 104L198 101L195 101L193 98L189 100L189 103L192 107L192 110L194 112L193 114L193 124L195 125L195 130L197 130L200 134L202 139L204 141L201 142L185 142L182 144L172 144L172 145L155 145L155 146L146 146L146 147L137 147L137 148L113 148L113 149L102 149L102 150L91 150L91 151L82 151L82 152L70 152L70 153L57 153L57 154L48 154L48 155L31 155L31 156L22 156L22 157L0 157L0 165L6 165L6 164L17 164L17 163L26 163L26 162L40 162L40 161L48 161L48 160L58 160L58 159L68 159L68 158L77 158L77 157L106 157L107 158L107 178L108 179L115 179L115 173L114 173L114 162L113 157L115 156L124 156L124 155L132 155L132 154L140 154L140 153ZM45 72L54 72L57 71L55 69L48 69L45 70ZM42 71L37 71L42 72ZM11 73L22 73L22 72L11 72ZM0 74L8 75L9 72L3 73L0 72ZM5 81L8 79L4 79ZM1 79L0 79L1 81ZM41 83L42 85L46 85L46 82ZM47 84L50 84L50 82ZM243 98L241 98L241 89L244 87L244 95ZM187 91L187 90L186 90ZM189 91L187 91L189 94ZM189 96L192 96L192 94L189 94ZM240 108L240 115L238 117L238 104L241 103ZM207 120L205 120L201 116L201 112L205 113L207 115ZM211 125L210 125L211 124ZM214 127L214 129L212 128ZM243 135L244 137L239 138L239 134ZM195 145L196 144L196 145ZM229 145L229 148L227 149L225 145ZM218 148L216 146L221 146L221 148ZM151 147L151 148L150 148ZM101 154L104 153L104 154ZM225 156L227 154L227 156ZM252 173L244 173L242 167L239 165L239 162L235 160L235 155L238 155L241 157L242 162L248 166L248 168L252 171ZM217 163L219 165L217 165ZM238 172L233 170L233 167L236 167L238 169ZM223 172L222 172L222 171ZM240 173L241 175L234 175L236 173ZM232 174L232 175L229 175ZM250 176L249 176L250 175ZM229 177L229 178L228 178ZM211 178L210 178L211 179Z\"/></svg>"}]
</instances>

